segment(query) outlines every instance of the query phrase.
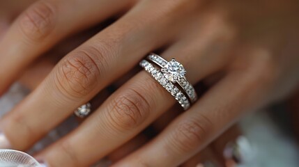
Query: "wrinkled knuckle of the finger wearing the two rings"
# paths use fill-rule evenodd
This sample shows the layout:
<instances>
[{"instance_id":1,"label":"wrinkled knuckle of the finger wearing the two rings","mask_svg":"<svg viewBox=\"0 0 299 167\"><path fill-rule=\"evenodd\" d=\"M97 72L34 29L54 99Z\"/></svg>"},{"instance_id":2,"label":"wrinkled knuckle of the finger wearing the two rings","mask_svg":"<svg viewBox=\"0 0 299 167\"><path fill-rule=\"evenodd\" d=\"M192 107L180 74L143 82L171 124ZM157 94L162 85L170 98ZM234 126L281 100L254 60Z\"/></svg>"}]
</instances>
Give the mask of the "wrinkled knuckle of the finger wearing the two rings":
<instances>
[{"instance_id":1,"label":"wrinkled knuckle of the finger wearing the two rings","mask_svg":"<svg viewBox=\"0 0 299 167\"><path fill-rule=\"evenodd\" d=\"M148 100L136 90L130 89L126 93L112 100L109 120L116 129L132 129L147 118L150 105Z\"/></svg>"}]
</instances>

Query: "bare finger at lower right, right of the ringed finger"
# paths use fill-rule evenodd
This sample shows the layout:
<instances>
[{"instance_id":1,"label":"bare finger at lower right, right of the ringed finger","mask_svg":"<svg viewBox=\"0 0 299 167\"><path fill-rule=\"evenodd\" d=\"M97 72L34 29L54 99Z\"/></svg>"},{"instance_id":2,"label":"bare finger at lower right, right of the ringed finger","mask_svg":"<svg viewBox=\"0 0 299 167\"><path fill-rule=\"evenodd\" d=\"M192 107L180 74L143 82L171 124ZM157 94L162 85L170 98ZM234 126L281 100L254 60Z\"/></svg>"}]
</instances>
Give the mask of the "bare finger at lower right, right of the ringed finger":
<instances>
[{"instance_id":1,"label":"bare finger at lower right, right of the ringed finger","mask_svg":"<svg viewBox=\"0 0 299 167\"><path fill-rule=\"evenodd\" d=\"M265 56L263 52L257 52L256 56ZM270 81L267 78L263 80L265 83L259 83L259 79L266 77L262 74L267 68L266 62L250 64L254 65L254 68L248 68L251 70L229 73L192 109L174 120L158 138L115 166L139 166L140 162L146 166L177 166L192 157L245 111L262 104L261 92ZM252 91L252 88L255 90Z\"/></svg>"}]
</instances>

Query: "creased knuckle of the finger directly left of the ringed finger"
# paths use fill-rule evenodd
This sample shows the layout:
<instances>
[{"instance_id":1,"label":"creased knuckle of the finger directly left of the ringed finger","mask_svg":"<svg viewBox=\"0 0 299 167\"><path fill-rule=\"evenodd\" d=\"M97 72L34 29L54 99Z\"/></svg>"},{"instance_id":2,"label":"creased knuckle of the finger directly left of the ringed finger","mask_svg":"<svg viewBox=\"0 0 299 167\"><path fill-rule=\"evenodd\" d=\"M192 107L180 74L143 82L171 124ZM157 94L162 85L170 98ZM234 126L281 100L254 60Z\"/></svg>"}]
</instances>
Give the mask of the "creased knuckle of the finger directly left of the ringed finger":
<instances>
[{"instance_id":1,"label":"creased knuckle of the finger directly left of the ringed finger","mask_svg":"<svg viewBox=\"0 0 299 167\"><path fill-rule=\"evenodd\" d=\"M92 51L82 49L62 61L56 84L70 97L88 95L98 85L99 67Z\"/></svg>"}]
</instances>

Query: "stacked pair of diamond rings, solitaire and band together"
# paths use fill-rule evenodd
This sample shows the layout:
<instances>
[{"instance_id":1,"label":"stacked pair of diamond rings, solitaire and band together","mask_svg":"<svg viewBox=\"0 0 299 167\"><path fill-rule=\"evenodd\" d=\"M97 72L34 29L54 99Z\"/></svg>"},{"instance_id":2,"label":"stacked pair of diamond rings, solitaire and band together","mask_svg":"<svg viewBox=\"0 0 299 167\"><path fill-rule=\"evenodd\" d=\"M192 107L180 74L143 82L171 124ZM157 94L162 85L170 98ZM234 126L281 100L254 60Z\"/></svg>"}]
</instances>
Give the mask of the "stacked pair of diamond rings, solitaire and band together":
<instances>
[{"instance_id":1,"label":"stacked pair of diamond rings, solitaire and band together","mask_svg":"<svg viewBox=\"0 0 299 167\"><path fill-rule=\"evenodd\" d=\"M168 62L157 54L150 54L147 59L148 61L140 62L141 67L144 67L144 70L151 74L181 104L184 110L189 109L191 103L196 102L197 93L185 78L187 72L183 65L174 58ZM159 70L154 64L161 69Z\"/></svg>"}]
</instances>

